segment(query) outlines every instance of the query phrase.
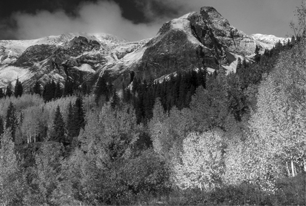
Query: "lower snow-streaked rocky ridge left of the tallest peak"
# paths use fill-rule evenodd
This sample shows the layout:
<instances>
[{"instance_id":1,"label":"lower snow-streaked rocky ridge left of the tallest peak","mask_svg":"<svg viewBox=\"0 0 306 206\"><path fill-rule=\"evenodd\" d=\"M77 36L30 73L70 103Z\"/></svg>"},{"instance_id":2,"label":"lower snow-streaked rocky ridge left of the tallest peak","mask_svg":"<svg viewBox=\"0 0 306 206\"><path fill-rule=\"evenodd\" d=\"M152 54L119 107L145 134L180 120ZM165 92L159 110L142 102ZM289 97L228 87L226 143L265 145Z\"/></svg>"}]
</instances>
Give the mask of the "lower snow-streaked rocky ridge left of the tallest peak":
<instances>
[{"instance_id":1,"label":"lower snow-streaked rocky ridge left of the tallest peak","mask_svg":"<svg viewBox=\"0 0 306 206\"><path fill-rule=\"evenodd\" d=\"M115 62L146 41L127 42L108 34L72 33L37 40L0 41L0 88L19 78L25 89L36 80L90 81L95 71ZM41 44L42 43L42 44Z\"/></svg>"}]
</instances>

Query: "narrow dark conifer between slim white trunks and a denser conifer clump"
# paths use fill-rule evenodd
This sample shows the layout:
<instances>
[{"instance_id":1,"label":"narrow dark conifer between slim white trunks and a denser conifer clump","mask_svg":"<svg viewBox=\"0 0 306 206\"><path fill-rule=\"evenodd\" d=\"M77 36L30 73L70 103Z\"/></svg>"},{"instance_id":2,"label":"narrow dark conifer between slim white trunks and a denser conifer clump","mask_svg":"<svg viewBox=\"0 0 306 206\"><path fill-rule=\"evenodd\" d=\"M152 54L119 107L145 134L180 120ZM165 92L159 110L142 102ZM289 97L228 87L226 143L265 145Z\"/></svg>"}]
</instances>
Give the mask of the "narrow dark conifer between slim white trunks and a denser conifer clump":
<instances>
[{"instance_id":1,"label":"narrow dark conifer between slim white trunks and a denser conifer clump","mask_svg":"<svg viewBox=\"0 0 306 206\"><path fill-rule=\"evenodd\" d=\"M53 121L53 134L51 140L56 142L65 143L65 122L61 113L60 106L58 105L55 112Z\"/></svg>"}]
</instances>

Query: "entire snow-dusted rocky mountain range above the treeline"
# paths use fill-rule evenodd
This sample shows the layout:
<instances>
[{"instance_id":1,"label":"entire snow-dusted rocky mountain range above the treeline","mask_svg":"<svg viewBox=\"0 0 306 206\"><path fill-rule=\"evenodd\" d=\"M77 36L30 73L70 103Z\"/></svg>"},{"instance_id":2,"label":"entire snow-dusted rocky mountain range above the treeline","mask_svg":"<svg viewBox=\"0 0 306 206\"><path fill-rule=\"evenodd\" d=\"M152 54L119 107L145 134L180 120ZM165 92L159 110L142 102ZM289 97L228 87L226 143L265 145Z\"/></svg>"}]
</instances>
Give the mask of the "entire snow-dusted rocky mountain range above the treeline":
<instances>
[{"instance_id":1,"label":"entire snow-dusted rocky mountain range above the treeline","mask_svg":"<svg viewBox=\"0 0 306 206\"><path fill-rule=\"evenodd\" d=\"M177 71L207 67L235 71L238 58L251 61L256 45L286 41L272 35L246 35L213 7L202 7L163 24L151 39L129 42L110 34L67 33L35 40L0 41L0 88L17 77L26 89L36 80L63 85L95 84L101 75L117 89L133 79L160 79Z\"/></svg>"}]
</instances>

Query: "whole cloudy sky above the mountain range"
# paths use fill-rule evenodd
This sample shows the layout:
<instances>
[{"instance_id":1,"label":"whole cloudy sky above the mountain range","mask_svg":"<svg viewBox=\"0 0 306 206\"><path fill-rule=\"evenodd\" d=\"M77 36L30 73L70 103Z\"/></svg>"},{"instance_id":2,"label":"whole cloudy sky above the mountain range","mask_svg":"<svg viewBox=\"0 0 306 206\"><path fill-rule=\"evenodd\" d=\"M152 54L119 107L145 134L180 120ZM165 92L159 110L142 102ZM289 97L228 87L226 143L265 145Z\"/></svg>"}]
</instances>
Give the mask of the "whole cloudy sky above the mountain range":
<instances>
[{"instance_id":1,"label":"whole cloudy sky above the mountain range","mask_svg":"<svg viewBox=\"0 0 306 206\"><path fill-rule=\"evenodd\" d=\"M300 0L0 0L0 40L67 32L154 37L162 24L202 6L214 7L246 34L291 36Z\"/></svg>"}]
</instances>

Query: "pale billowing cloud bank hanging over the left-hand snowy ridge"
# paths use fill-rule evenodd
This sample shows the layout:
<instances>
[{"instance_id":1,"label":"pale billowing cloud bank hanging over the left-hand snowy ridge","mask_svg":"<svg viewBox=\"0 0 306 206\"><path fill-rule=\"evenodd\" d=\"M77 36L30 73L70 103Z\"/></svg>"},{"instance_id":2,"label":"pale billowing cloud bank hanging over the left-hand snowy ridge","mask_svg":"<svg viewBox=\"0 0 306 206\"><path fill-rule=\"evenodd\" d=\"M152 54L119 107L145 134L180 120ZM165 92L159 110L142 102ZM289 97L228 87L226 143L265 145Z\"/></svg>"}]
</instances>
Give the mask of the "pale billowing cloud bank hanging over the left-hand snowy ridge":
<instances>
[{"instance_id":1,"label":"pale billowing cloud bank hanging over the left-hand snowy ridge","mask_svg":"<svg viewBox=\"0 0 306 206\"><path fill-rule=\"evenodd\" d=\"M87 32L109 33L130 40L140 40L154 36L161 25L158 20L135 24L122 17L119 5L111 1L83 2L74 13L75 15L68 15L63 9L53 12L40 10L35 14L15 12L11 20L16 23L16 27L11 31L17 39ZM9 35L12 32L4 33Z\"/></svg>"}]
</instances>

